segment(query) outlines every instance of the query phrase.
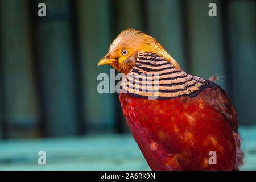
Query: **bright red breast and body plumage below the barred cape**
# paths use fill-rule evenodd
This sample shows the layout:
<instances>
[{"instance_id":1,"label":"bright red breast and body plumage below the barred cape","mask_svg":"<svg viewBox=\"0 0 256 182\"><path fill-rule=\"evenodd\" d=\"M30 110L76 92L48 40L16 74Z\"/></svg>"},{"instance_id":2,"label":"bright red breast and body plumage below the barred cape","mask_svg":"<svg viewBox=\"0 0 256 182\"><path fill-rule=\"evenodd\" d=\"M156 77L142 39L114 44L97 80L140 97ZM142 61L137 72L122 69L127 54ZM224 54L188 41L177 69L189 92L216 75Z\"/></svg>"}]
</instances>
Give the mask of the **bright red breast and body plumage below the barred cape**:
<instances>
[{"instance_id":1,"label":"bright red breast and body plumage below the barred cape","mask_svg":"<svg viewBox=\"0 0 256 182\"><path fill-rule=\"evenodd\" d=\"M170 100L120 94L131 134L151 169L234 169L236 142L232 127L225 115L204 97L214 92L217 91L207 88L193 98ZM216 152L217 164L209 164L210 151Z\"/></svg>"}]
</instances>

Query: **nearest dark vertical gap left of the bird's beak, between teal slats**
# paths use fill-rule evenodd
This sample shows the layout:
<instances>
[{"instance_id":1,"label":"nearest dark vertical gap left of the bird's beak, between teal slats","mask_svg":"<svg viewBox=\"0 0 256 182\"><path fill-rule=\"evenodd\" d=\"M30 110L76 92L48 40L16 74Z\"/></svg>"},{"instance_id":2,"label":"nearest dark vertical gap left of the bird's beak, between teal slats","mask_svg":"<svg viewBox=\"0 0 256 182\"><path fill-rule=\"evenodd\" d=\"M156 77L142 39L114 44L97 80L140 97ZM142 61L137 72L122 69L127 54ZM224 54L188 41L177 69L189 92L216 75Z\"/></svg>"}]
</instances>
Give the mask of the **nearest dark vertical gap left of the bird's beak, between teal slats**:
<instances>
[{"instance_id":1,"label":"nearest dark vertical gap left of the bird's beak, between teal slats","mask_svg":"<svg viewBox=\"0 0 256 182\"><path fill-rule=\"evenodd\" d=\"M84 135L86 133L86 121L83 118L83 110L85 110L85 105L82 103L82 98L84 98L84 90L82 88L82 73L81 73L81 48L79 46L79 31L78 31L78 16L77 16L77 1L69 1L71 5L71 26L72 26L72 51L73 51L73 73L75 82L75 93L76 93L76 114L77 114L77 125L78 135Z\"/></svg>"}]
</instances>

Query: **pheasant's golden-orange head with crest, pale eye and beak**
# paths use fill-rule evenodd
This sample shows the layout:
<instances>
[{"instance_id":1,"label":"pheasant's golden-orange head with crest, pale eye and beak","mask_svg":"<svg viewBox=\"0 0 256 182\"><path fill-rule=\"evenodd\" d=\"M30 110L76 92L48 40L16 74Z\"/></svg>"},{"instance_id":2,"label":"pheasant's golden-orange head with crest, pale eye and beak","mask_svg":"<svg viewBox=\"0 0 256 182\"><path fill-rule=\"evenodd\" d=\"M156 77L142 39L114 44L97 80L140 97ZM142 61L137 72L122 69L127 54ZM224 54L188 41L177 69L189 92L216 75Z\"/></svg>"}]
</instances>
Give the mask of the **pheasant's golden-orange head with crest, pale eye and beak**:
<instances>
[{"instance_id":1,"label":"pheasant's golden-orange head with crest, pale eye and beak","mask_svg":"<svg viewBox=\"0 0 256 182\"><path fill-rule=\"evenodd\" d=\"M109 64L126 75L135 65L139 51L159 55L180 69L179 64L156 39L135 29L122 31L110 45L109 52L99 61L98 66Z\"/></svg>"}]
</instances>

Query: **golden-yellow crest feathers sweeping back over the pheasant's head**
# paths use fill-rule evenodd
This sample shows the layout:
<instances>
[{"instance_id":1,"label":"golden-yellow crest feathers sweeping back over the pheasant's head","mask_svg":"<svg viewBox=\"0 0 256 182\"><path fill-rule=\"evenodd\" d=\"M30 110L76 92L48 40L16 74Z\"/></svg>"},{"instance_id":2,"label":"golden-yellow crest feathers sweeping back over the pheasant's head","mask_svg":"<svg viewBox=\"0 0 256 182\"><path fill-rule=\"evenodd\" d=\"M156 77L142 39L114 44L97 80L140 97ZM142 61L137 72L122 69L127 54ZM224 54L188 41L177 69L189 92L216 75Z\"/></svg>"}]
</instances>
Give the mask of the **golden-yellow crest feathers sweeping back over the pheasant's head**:
<instances>
[{"instance_id":1,"label":"golden-yellow crest feathers sweeping back over the pheasant's head","mask_svg":"<svg viewBox=\"0 0 256 182\"><path fill-rule=\"evenodd\" d=\"M170 61L177 69L180 69L179 64L164 50L156 39L134 28L123 30L110 45L109 53L112 54L121 48L156 53Z\"/></svg>"}]
</instances>

